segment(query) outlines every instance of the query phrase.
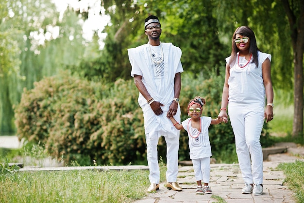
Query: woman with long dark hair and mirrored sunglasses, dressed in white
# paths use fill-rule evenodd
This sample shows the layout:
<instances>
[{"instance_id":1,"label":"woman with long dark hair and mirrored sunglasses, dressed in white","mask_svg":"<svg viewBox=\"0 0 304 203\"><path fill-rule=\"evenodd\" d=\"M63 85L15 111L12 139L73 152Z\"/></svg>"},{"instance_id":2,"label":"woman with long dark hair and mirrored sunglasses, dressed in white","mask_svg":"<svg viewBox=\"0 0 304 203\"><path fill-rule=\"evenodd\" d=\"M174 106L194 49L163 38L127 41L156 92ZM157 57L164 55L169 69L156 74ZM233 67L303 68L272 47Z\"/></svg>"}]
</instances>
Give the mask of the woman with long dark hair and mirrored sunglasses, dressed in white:
<instances>
[{"instance_id":1,"label":"woman with long dark hair and mirrored sunglasses, dressed in white","mask_svg":"<svg viewBox=\"0 0 304 203\"><path fill-rule=\"evenodd\" d=\"M245 187L243 194L263 194L263 153L260 136L264 120L273 119L271 55L257 48L249 27L236 28L231 55L226 58L225 83L218 118L229 117ZM267 105L265 106L265 94ZM251 163L252 162L252 163Z\"/></svg>"}]
</instances>

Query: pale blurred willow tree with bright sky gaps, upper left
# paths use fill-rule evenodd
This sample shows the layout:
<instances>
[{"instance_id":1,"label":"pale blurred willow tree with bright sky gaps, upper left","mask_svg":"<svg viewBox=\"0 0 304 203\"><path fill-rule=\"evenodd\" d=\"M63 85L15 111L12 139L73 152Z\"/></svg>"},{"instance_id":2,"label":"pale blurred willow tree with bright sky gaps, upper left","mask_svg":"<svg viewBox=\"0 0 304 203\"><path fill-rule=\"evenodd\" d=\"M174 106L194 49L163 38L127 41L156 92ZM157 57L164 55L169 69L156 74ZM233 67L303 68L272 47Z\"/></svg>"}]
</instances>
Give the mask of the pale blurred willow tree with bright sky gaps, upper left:
<instances>
[{"instance_id":1,"label":"pale blurred willow tree with bright sky gaps, upper left","mask_svg":"<svg viewBox=\"0 0 304 203\"><path fill-rule=\"evenodd\" d=\"M15 131L13 106L23 88L78 64L84 52L79 17L68 9L61 20L49 0L0 3L0 133ZM58 29L57 33L54 33ZM72 51L71 51L72 50Z\"/></svg>"}]
</instances>

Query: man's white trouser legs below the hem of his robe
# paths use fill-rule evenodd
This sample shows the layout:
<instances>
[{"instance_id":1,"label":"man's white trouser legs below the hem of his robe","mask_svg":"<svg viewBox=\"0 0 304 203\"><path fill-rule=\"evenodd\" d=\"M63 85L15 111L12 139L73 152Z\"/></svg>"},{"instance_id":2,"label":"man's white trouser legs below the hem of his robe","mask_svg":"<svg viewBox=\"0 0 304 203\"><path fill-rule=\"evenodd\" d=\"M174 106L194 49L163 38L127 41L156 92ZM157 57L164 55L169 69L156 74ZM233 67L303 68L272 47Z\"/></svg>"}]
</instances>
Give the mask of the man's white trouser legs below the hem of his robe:
<instances>
[{"instance_id":1,"label":"man's white trouser legs below the hem of his robe","mask_svg":"<svg viewBox=\"0 0 304 203\"><path fill-rule=\"evenodd\" d=\"M147 143L147 160L150 170L149 180L150 183L159 184L160 182L160 171L158 166L158 153L157 153L157 139L150 139L149 134L146 134ZM153 136L152 136L153 137ZM179 149L179 136L168 138L165 137L167 143L167 182L176 182L178 174L178 149Z\"/></svg>"}]
</instances>

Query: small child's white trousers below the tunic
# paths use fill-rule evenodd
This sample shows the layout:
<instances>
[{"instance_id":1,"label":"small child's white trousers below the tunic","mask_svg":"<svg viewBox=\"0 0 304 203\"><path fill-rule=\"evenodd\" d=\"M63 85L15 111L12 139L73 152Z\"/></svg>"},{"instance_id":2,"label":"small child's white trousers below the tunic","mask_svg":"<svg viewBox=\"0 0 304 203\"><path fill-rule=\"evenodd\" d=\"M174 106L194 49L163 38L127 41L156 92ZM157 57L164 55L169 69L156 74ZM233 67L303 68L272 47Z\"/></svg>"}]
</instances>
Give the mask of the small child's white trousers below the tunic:
<instances>
[{"instance_id":1,"label":"small child's white trousers below the tunic","mask_svg":"<svg viewBox=\"0 0 304 203\"><path fill-rule=\"evenodd\" d=\"M204 157L201 159L192 159L194 168L194 176L196 181L202 181L203 183L209 183L210 181L210 157Z\"/></svg>"}]
</instances>

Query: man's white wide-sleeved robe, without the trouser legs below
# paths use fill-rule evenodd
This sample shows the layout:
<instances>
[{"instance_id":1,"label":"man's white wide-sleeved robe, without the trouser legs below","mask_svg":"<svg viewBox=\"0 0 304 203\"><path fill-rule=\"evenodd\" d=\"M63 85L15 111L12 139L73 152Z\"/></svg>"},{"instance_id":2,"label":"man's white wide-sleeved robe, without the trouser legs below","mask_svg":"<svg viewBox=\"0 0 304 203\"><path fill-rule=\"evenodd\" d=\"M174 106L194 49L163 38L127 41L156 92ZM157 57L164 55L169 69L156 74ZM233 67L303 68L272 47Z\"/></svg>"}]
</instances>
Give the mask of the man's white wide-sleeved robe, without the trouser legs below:
<instances>
[{"instance_id":1,"label":"man's white wide-sleeved robe, without the trouser legs below","mask_svg":"<svg viewBox=\"0 0 304 203\"><path fill-rule=\"evenodd\" d=\"M144 113L145 133L150 134L151 139L156 139L161 135L168 137L179 136L179 130L175 129L169 118L167 111L174 98L174 77L176 73L182 73L183 66L180 61L182 51L172 43L161 43L163 49L164 69L163 72L155 71L155 63L151 58L150 45L144 44L136 48L128 49L129 60L132 66L131 76L141 75L142 82L147 91L164 106L161 115L155 115L146 99L139 92L138 103ZM155 47L155 50L159 48ZM152 52L153 53L153 52ZM162 70L162 69L161 69ZM174 118L180 121L180 106ZM153 137L151 137L153 136Z\"/></svg>"}]
</instances>

